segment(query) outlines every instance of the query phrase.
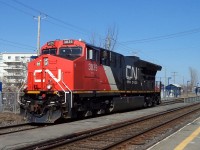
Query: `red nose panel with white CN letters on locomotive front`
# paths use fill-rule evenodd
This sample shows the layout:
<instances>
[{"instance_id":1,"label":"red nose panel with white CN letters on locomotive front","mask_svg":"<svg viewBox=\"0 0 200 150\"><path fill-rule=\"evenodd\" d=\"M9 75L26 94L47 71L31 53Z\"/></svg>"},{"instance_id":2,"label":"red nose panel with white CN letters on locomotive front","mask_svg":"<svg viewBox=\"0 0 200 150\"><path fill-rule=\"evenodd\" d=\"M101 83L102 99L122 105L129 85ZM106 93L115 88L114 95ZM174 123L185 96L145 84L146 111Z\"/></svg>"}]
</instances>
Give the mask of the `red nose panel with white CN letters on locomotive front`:
<instances>
[{"instance_id":1,"label":"red nose panel with white CN letters on locomotive front","mask_svg":"<svg viewBox=\"0 0 200 150\"><path fill-rule=\"evenodd\" d=\"M28 91L63 91L66 72L71 74L72 62L53 55L43 55L29 63ZM66 79L67 80L67 79ZM68 81L69 86L70 82Z\"/></svg>"}]
</instances>

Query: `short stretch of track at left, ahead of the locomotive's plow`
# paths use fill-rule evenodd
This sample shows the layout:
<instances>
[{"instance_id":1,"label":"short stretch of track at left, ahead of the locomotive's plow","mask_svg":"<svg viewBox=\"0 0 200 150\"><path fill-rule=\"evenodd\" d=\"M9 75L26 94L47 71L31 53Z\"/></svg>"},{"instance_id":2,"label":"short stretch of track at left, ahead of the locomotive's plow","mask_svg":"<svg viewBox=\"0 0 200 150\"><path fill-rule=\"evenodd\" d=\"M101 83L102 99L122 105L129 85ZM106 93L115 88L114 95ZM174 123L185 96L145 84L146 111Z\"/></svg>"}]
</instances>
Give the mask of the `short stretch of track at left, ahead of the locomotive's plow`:
<instances>
[{"instance_id":1,"label":"short stretch of track at left, ahead of the locomotive's plow","mask_svg":"<svg viewBox=\"0 0 200 150\"><path fill-rule=\"evenodd\" d=\"M21 132L25 130L31 130L35 128L38 128L38 126L33 126L29 123L3 126L3 127L0 127L0 136L5 135L5 134L15 133L15 132Z\"/></svg>"}]
</instances>

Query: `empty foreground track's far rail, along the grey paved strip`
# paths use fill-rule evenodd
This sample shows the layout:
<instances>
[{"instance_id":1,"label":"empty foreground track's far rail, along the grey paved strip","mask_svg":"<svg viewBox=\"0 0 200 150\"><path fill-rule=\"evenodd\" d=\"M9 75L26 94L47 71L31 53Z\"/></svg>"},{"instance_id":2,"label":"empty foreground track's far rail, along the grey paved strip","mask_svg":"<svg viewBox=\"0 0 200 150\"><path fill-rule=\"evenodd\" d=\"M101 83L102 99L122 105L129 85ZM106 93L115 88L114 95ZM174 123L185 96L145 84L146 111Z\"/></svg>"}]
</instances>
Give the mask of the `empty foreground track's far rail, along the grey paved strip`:
<instances>
[{"instance_id":1,"label":"empty foreground track's far rail, along the grey paved strip","mask_svg":"<svg viewBox=\"0 0 200 150\"><path fill-rule=\"evenodd\" d=\"M200 104L198 104L198 105L200 105ZM104 127L98 128L98 129L88 130L88 131L85 131L85 132L60 137L59 139L52 139L52 140L49 140L49 141L38 143L37 145L29 145L29 146L23 147L23 149L32 150L32 149L37 148L37 150L43 150L43 149L55 148L55 147L58 147L60 145L69 144L69 143L72 143L72 142L75 142L75 141L78 141L78 140L82 140L82 139L85 139L85 138L88 138L88 137L91 137L91 136L103 134L105 132L110 132L112 130L116 130L117 128L122 128L122 127L125 127L125 126L128 126L128 125L134 124L134 123L144 121L146 119L155 118L157 116L162 116L162 115L170 113L170 112L175 112L175 111L178 111L178 110L181 110L181 109L184 109L184 108L188 108L188 107L193 107L193 106L197 106L197 104L192 104L192 105L189 105L189 106L182 106L182 107L174 108L174 109L167 110L167 111L164 111L164 112L159 112L159 113L156 113L156 114L145 116L145 117L142 117L142 118L139 118L139 119L128 120L128 121L123 122L123 123L120 122L120 123L116 123L116 124L113 124L113 125L104 126ZM120 142L122 142L122 141L120 141ZM107 148L110 148L110 147L104 147L103 149L107 149Z\"/></svg>"}]
</instances>

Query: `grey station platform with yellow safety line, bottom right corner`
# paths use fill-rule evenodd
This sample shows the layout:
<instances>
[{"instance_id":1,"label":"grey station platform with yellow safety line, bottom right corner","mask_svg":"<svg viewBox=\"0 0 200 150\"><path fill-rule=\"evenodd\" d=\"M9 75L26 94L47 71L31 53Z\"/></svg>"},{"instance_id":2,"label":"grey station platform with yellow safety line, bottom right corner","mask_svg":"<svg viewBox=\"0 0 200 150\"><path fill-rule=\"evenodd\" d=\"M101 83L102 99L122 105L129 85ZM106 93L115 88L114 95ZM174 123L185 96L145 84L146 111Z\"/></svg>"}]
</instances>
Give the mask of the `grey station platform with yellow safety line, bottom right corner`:
<instances>
[{"instance_id":1,"label":"grey station platform with yellow safety line, bottom right corner","mask_svg":"<svg viewBox=\"0 0 200 150\"><path fill-rule=\"evenodd\" d=\"M199 150L200 117L148 150Z\"/></svg>"}]
</instances>

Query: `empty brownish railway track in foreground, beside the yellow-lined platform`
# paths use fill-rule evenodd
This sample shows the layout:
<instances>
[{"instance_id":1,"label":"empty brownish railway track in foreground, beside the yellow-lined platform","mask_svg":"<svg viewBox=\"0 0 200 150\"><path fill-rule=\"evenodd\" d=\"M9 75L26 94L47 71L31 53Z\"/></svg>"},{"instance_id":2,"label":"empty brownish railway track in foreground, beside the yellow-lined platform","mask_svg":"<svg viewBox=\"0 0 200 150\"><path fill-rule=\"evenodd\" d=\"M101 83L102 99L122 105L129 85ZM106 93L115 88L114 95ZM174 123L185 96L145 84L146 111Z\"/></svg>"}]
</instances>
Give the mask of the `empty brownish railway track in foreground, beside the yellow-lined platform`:
<instances>
[{"instance_id":1,"label":"empty brownish railway track in foreground, beside the yellow-lined platform","mask_svg":"<svg viewBox=\"0 0 200 150\"><path fill-rule=\"evenodd\" d=\"M61 137L23 149L146 149L200 115L200 104Z\"/></svg>"}]
</instances>

